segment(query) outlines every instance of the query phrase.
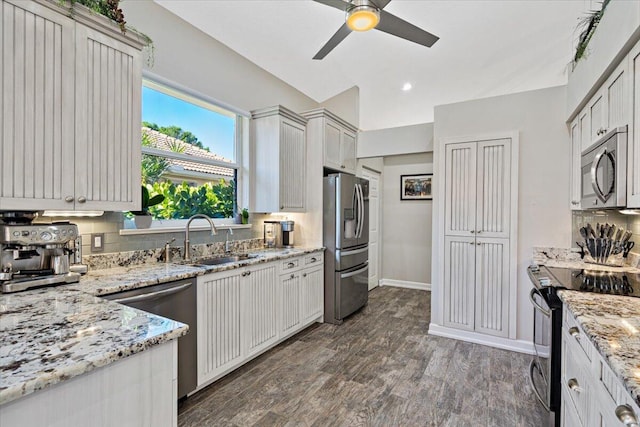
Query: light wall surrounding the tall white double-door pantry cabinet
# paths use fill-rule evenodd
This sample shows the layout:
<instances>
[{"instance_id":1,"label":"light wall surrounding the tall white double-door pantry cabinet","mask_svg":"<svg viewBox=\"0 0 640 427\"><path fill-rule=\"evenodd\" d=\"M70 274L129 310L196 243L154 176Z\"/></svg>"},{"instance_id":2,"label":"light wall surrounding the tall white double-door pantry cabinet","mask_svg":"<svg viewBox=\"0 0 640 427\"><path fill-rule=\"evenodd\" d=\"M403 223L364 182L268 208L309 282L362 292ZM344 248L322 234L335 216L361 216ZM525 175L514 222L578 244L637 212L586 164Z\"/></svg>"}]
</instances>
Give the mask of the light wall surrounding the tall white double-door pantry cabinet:
<instances>
[{"instance_id":1,"label":"light wall surrounding the tall white double-door pantry cabinet","mask_svg":"<svg viewBox=\"0 0 640 427\"><path fill-rule=\"evenodd\" d=\"M569 210L569 133L564 123L566 87L554 87L435 108L435 164L443 138L519 131L518 183L517 339L532 340L533 311L528 300L527 277L533 246L568 247L571 243ZM440 179L442 171L435 171ZM434 253L432 257L432 322L442 325L442 255L439 247L437 204L434 194Z\"/></svg>"}]
</instances>

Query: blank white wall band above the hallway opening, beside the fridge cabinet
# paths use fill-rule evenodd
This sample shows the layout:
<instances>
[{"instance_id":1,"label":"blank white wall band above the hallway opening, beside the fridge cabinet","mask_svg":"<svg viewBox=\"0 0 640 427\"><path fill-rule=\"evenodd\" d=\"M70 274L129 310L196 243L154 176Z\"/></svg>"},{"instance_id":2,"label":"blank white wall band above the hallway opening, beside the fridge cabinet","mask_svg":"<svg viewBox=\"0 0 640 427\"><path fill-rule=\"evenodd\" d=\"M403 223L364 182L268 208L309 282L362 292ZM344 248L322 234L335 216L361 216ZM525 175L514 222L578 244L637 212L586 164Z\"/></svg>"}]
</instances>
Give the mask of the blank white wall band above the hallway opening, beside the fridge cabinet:
<instances>
[{"instance_id":1,"label":"blank white wall band above the hallway opening, beside the fridge cabinet","mask_svg":"<svg viewBox=\"0 0 640 427\"><path fill-rule=\"evenodd\" d=\"M358 134L359 158L428 151L433 151L433 123L363 131Z\"/></svg>"}]
</instances>

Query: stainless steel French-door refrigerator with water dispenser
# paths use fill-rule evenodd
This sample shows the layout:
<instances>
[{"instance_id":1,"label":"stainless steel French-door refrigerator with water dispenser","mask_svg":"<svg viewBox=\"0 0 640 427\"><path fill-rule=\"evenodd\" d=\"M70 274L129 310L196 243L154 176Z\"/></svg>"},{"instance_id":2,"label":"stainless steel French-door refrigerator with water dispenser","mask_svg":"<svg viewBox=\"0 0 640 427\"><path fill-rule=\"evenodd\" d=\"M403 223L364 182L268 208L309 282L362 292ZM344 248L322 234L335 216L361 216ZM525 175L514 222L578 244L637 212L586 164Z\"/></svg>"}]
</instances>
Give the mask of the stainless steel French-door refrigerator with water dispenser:
<instances>
[{"instance_id":1,"label":"stainless steel French-door refrigerator with water dispenser","mask_svg":"<svg viewBox=\"0 0 640 427\"><path fill-rule=\"evenodd\" d=\"M369 296L369 181L324 178L324 321L340 324Z\"/></svg>"}]
</instances>

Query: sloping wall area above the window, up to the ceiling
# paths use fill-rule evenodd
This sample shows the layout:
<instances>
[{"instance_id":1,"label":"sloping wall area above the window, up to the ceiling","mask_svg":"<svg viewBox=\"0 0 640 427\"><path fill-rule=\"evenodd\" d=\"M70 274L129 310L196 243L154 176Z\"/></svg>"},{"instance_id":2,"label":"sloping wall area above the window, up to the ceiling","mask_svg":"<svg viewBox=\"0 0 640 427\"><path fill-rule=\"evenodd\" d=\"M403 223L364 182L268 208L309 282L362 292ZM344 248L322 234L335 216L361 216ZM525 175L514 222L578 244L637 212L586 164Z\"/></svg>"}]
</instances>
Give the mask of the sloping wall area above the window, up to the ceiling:
<instances>
[{"instance_id":1,"label":"sloping wall area above the window, up to the ceiling","mask_svg":"<svg viewBox=\"0 0 640 427\"><path fill-rule=\"evenodd\" d=\"M151 0L121 4L127 24L153 40L153 74L251 111L281 104L293 111L318 107L302 92L269 74Z\"/></svg>"}]
</instances>

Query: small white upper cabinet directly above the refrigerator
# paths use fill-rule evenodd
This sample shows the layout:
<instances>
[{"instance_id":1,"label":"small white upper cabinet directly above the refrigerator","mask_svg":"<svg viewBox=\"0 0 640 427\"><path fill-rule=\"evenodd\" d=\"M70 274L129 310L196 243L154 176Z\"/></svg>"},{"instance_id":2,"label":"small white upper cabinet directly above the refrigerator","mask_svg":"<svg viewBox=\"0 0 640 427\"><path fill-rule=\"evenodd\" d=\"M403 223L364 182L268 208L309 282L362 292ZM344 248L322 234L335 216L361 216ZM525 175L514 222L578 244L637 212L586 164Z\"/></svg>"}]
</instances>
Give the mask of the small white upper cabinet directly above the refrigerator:
<instances>
[{"instance_id":1,"label":"small white upper cabinet directly above the refrigerator","mask_svg":"<svg viewBox=\"0 0 640 427\"><path fill-rule=\"evenodd\" d=\"M323 166L355 175L358 129L324 108L301 115L309 119L309 144L322 144Z\"/></svg>"}]
</instances>

